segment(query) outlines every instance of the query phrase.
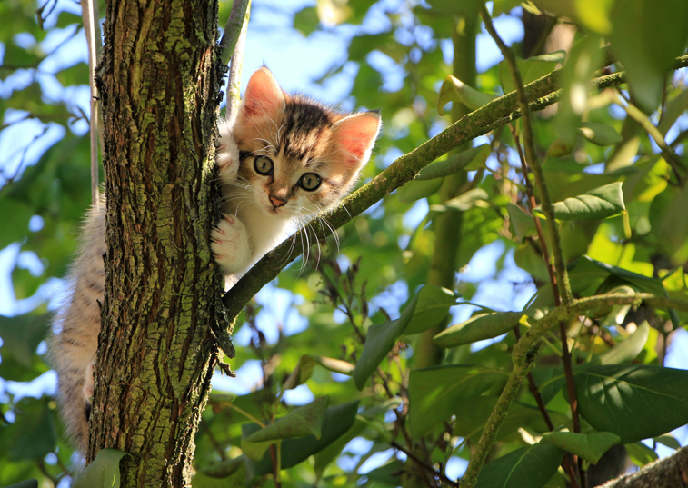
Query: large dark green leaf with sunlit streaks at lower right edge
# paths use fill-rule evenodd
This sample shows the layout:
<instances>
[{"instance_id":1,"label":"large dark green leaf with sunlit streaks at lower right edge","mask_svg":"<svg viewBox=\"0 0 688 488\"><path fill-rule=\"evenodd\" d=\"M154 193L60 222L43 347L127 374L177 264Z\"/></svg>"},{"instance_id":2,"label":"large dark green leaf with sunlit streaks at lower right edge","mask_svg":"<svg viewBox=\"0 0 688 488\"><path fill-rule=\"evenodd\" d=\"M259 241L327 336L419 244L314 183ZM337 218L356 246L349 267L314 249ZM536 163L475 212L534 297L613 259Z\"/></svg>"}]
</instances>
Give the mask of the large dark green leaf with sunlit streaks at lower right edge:
<instances>
[{"instance_id":1,"label":"large dark green leaf with sunlit streaks at lower right edge","mask_svg":"<svg viewBox=\"0 0 688 488\"><path fill-rule=\"evenodd\" d=\"M688 371L639 364L585 368L574 376L581 415L622 443L667 433L688 423Z\"/></svg>"}]
</instances>

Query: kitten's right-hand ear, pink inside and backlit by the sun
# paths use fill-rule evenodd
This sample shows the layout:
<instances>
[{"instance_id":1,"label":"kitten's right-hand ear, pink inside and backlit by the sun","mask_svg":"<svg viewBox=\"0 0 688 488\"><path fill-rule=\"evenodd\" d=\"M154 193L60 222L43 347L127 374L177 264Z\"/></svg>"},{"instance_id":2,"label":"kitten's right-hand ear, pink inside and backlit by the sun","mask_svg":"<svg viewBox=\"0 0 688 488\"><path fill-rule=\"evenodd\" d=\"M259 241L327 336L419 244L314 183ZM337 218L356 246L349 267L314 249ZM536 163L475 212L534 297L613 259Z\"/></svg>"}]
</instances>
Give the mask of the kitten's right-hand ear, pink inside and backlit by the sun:
<instances>
[{"instance_id":1,"label":"kitten's right-hand ear, pink inside and backlit by the sun","mask_svg":"<svg viewBox=\"0 0 688 488\"><path fill-rule=\"evenodd\" d=\"M332 126L332 138L343 150L345 162L356 169L368 162L379 132L376 112L349 115Z\"/></svg>"}]
</instances>

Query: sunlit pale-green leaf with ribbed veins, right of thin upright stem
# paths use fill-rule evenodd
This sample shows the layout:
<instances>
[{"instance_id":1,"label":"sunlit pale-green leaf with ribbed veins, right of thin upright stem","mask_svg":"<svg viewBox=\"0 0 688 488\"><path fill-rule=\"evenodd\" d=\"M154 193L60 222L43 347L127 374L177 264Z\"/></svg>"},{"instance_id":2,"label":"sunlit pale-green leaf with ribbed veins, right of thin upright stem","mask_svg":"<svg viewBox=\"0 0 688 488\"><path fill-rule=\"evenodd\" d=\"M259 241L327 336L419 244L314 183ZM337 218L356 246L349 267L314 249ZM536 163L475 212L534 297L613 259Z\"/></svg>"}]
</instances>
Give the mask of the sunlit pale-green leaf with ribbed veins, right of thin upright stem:
<instances>
[{"instance_id":1,"label":"sunlit pale-green leaf with ribbed veins, right of thin upright stem","mask_svg":"<svg viewBox=\"0 0 688 488\"><path fill-rule=\"evenodd\" d=\"M587 194L566 198L553 204L554 217L559 220L603 219L625 212L621 183L605 184Z\"/></svg>"}]
</instances>

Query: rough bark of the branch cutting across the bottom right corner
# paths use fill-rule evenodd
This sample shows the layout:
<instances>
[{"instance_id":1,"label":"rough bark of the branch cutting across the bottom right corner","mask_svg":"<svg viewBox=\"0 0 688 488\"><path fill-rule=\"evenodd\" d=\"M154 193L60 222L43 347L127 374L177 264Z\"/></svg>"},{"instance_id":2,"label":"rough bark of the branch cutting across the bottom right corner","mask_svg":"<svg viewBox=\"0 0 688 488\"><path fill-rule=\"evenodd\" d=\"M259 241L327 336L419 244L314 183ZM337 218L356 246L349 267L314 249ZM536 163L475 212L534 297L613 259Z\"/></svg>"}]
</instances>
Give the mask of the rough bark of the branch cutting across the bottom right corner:
<instances>
[{"instance_id":1,"label":"rough bark of the branch cutting across the bottom right corner","mask_svg":"<svg viewBox=\"0 0 688 488\"><path fill-rule=\"evenodd\" d=\"M602 488L687 488L688 447L679 449L671 456L658 459L642 470L627 474Z\"/></svg>"}]
</instances>

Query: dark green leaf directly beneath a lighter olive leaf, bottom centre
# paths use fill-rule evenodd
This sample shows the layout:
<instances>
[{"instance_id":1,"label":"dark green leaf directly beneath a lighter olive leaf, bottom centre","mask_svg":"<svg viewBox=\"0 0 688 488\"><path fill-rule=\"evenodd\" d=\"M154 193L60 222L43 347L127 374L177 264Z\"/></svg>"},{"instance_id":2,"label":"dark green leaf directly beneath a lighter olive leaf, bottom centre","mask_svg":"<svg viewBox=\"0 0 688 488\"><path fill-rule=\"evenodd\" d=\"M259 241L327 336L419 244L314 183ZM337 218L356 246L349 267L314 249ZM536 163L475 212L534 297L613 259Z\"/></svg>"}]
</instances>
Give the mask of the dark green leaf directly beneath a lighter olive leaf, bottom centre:
<instances>
[{"instance_id":1,"label":"dark green leaf directly beneath a lighter olive leaf, bottom centre","mask_svg":"<svg viewBox=\"0 0 688 488\"><path fill-rule=\"evenodd\" d=\"M321 436L306 435L300 439L282 441L282 469L288 469L302 463L308 457L321 453L325 448L344 436L354 425L359 402L349 402L328 408L324 413ZM344 449L344 445L340 448ZM335 454L336 455L336 454ZM321 460L322 461L322 460ZM251 463L250 471L254 475L274 473L273 461L269 453L264 453L260 461Z\"/></svg>"}]
</instances>

